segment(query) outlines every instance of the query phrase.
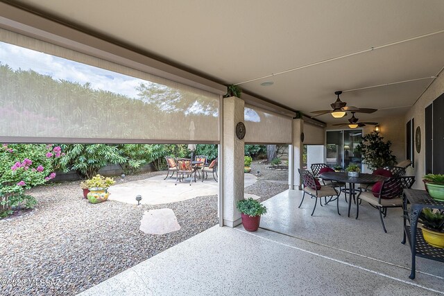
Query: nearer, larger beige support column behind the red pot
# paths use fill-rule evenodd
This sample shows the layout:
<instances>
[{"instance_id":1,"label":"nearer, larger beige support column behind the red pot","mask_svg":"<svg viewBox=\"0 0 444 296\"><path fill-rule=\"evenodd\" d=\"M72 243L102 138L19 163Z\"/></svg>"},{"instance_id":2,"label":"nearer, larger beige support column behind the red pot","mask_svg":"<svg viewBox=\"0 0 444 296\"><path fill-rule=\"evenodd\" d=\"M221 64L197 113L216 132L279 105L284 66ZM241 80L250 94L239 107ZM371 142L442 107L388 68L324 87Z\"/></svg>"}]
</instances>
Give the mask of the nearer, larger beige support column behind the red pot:
<instances>
[{"instance_id":1,"label":"nearer, larger beige support column behind the red pot","mask_svg":"<svg viewBox=\"0 0 444 296\"><path fill-rule=\"evenodd\" d=\"M244 199L244 140L237 139L236 125L244 122L244 105L240 98L223 98L223 224L229 227L241 224L236 203Z\"/></svg>"}]
</instances>

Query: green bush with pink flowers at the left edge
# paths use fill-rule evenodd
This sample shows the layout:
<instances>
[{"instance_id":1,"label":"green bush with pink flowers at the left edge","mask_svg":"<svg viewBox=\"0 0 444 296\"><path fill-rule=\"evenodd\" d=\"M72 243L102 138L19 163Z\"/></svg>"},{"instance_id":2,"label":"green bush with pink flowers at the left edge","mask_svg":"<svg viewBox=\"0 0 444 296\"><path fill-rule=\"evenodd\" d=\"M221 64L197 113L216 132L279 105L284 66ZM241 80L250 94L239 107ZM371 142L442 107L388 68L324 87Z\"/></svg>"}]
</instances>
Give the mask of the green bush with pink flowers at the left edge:
<instances>
[{"instance_id":1,"label":"green bush with pink flowers at the left edge","mask_svg":"<svg viewBox=\"0 0 444 296\"><path fill-rule=\"evenodd\" d=\"M53 159L60 156L59 146L0 144L0 218L18 206L35 206L37 201L26 190L56 177Z\"/></svg>"}]
</instances>

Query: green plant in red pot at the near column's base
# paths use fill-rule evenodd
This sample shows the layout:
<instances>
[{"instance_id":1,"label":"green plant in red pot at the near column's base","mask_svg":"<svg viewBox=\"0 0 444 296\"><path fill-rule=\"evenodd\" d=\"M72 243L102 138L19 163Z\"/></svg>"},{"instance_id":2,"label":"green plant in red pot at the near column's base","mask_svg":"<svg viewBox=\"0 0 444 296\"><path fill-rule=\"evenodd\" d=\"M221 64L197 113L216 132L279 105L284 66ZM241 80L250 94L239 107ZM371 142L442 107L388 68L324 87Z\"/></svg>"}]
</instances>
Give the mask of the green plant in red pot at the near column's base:
<instances>
[{"instance_id":1,"label":"green plant in red pot at the near column's base","mask_svg":"<svg viewBox=\"0 0 444 296\"><path fill-rule=\"evenodd\" d=\"M266 213L266 207L253 198L239 200L236 204L237 209L241 212L242 225L248 232L255 232L259 228L261 215Z\"/></svg>"}]
</instances>

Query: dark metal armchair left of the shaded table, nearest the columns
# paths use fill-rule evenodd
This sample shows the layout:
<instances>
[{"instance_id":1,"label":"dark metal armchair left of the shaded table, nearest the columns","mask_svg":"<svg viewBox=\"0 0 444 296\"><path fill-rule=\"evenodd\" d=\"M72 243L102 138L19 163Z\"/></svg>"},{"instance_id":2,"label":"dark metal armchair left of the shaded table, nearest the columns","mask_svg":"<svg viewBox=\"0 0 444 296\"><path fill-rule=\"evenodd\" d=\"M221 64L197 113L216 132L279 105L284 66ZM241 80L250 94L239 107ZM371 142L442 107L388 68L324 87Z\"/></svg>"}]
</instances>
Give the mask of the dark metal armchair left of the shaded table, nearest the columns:
<instances>
[{"instance_id":1,"label":"dark metal armchair left of the shaded table, nearest the columns","mask_svg":"<svg viewBox=\"0 0 444 296\"><path fill-rule=\"evenodd\" d=\"M332 201L332 198L334 196L336 196L336 207L337 207L338 214L339 214L339 193L340 193L340 191L337 191L332 186L321 185L321 183L319 183L318 179L316 179L314 177L314 175L312 175L307 170L298 169L298 171L299 171L300 178L302 179L302 185L303 185L303 191L304 191L304 194L302 195L302 200L300 201L298 208L300 208L300 206L302 205L302 202L304 201L305 193L310 195L312 198L315 198L314 208L313 208L313 211L311 212L311 216L313 216L314 210L316 209L316 204L318 203L318 198L319 198L319 203L321 204L321 207L323 207L321 198L327 198L327 196L330 196L330 201ZM341 215L341 214L339 214L339 215Z\"/></svg>"}]
</instances>

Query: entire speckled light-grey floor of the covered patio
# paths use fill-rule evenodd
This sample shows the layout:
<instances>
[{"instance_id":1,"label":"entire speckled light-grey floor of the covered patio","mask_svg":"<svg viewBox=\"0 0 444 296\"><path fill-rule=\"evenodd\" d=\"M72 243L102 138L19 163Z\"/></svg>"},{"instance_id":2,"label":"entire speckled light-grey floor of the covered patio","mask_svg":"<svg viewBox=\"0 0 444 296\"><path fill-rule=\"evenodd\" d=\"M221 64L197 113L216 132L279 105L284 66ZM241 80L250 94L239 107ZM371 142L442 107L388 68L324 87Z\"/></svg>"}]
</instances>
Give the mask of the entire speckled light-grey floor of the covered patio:
<instances>
[{"instance_id":1,"label":"entire speckled light-grey floor of the covered patio","mask_svg":"<svg viewBox=\"0 0 444 296\"><path fill-rule=\"evenodd\" d=\"M388 213L384 234L364 204L359 220L343 200L342 216L331 204L311 217L314 200L298 209L300 196L264 202L261 227L272 230L212 227L80 295L444 295L443 263L418 258L409 279L400 213Z\"/></svg>"}]
</instances>

